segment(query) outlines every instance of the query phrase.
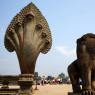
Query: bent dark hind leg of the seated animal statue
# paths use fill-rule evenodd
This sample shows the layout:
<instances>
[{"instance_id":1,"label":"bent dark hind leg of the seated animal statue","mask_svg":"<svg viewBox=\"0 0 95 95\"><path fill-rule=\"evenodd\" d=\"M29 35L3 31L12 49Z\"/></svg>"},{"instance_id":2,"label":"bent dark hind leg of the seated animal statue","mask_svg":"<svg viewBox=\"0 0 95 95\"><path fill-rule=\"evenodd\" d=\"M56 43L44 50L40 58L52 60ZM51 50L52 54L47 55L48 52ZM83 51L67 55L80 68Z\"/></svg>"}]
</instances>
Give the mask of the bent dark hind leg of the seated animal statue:
<instances>
[{"instance_id":1,"label":"bent dark hind leg of the seated animal statue","mask_svg":"<svg viewBox=\"0 0 95 95\"><path fill-rule=\"evenodd\" d=\"M70 76L70 80L72 83L72 88L73 92L77 93L81 91L80 84L79 84L79 74L77 73L76 66L73 62L71 65L68 67L68 74Z\"/></svg>"}]
</instances>

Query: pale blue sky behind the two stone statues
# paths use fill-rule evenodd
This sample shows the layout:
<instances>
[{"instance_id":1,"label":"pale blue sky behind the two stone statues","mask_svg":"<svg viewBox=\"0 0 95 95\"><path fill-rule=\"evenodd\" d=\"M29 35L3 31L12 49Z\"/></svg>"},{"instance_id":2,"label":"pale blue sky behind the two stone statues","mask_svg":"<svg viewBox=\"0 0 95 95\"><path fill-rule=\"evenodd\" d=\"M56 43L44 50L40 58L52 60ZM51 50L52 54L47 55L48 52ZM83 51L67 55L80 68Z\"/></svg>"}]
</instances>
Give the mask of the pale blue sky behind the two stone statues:
<instances>
[{"instance_id":1,"label":"pale blue sky behind the two stone statues","mask_svg":"<svg viewBox=\"0 0 95 95\"><path fill-rule=\"evenodd\" d=\"M48 54L38 57L35 71L41 76L67 75L68 65L76 59L76 40L95 34L95 0L0 0L0 74L20 74L15 52L4 47L4 35L12 18L30 2L45 16L53 39Z\"/></svg>"}]
</instances>

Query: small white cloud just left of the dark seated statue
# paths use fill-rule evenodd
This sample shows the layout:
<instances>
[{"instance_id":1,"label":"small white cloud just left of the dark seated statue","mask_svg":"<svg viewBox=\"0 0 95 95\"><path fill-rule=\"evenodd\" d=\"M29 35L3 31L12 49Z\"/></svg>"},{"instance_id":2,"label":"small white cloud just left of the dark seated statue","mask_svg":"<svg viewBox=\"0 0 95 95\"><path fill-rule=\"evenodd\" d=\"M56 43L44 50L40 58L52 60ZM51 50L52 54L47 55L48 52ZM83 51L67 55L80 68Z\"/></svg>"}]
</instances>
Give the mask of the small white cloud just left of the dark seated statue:
<instances>
[{"instance_id":1,"label":"small white cloud just left of the dark seated statue","mask_svg":"<svg viewBox=\"0 0 95 95\"><path fill-rule=\"evenodd\" d=\"M58 46L56 47L57 51L62 53L64 56L76 56L76 49L68 49L66 46Z\"/></svg>"}]
</instances>

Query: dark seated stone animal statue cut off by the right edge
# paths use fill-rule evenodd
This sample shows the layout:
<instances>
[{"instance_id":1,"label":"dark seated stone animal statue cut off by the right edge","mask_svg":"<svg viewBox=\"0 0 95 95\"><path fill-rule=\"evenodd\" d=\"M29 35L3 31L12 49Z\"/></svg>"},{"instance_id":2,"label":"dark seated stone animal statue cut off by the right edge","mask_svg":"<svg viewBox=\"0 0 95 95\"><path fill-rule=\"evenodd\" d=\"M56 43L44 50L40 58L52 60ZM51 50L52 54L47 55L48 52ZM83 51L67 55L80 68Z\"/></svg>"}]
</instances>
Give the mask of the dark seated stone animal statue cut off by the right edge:
<instances>
[{"instance_id":1,"label":"dark seated stone animal statue cut off by the right edge","mask_svg":"<svg viewBox=\"0 0 95 95\"><path fill-rule=\"evenodd\" d=\"M88 33L77 40L77 59L69 65L68 73L74 93L95 94L95 34Z\"/></svg>"}]
</instances>

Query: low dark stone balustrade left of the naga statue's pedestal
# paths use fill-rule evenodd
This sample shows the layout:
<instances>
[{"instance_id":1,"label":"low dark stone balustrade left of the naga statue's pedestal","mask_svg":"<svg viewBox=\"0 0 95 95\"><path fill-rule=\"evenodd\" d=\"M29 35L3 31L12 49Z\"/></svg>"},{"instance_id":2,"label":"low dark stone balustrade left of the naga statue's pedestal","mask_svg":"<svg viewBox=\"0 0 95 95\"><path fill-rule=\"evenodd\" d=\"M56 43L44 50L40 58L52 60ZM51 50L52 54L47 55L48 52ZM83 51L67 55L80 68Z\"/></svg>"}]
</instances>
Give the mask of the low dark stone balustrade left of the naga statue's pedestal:
<instances>
[{"instance_id":1,"label":"low dark stone balustrade left of the naga statue's pedestal","mask_svg":"<svg viewBox=\"0 0 95 95\"><path fill-rule=\"evenodd\" d=\"M19 88L9 88L9 85L11 86L17 85L18 83L18 76L9 76L9 75L1 75L0 76L0 95L15 95L18 93Z\"/></svg>"}]
</instances>

